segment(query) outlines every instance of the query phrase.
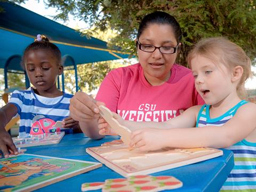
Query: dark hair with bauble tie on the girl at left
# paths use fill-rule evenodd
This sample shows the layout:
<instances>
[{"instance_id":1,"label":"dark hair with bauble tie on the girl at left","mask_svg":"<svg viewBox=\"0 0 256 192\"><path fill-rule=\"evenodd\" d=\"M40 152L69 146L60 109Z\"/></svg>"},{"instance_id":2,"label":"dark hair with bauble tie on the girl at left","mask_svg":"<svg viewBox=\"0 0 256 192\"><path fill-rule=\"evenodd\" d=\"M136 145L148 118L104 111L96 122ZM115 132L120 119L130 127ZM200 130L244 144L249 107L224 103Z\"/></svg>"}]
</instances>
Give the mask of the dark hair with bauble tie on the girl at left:
<instances>
[{"instance_id":1,"label":"dark hair with bauble tie on the girl at left","mask_svg":"<svg viewBox=\"0 0 256 192\"><path fill-rule=\"evenodd\" d=\"M51 43L45 35L37 35L37 38L35 38L35 42L28 45L23 53L21 62L22 67L25 69L25 55L27 54L27 52L42 49L52 52L52 54L57 58L57 64L61 63L61 53L59 48Z\"/></svg>"}]
</instances>

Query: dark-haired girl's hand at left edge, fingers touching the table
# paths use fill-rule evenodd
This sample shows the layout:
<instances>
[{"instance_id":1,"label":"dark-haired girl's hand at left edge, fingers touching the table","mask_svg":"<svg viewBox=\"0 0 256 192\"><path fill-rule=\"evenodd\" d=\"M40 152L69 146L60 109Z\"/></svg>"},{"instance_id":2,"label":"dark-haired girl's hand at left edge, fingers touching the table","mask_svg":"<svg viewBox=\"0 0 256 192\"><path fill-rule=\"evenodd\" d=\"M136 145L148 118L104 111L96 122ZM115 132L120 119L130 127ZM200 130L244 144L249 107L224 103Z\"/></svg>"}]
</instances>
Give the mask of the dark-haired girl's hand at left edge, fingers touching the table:
<instances>
[{"instance_id":1,"label":"dark-haired girl's hand at left edge, fingers touching the table","mask_svg":"<svg viewBox=\"0 0 256 192\"><path fill-rule=\"evenodd\" d=\"M11 155L19 154L10 134L7 133L5 130L0 131L0 149L2 150L5 158L9 157L9 153Z\"/></svg>"}]
</instances>

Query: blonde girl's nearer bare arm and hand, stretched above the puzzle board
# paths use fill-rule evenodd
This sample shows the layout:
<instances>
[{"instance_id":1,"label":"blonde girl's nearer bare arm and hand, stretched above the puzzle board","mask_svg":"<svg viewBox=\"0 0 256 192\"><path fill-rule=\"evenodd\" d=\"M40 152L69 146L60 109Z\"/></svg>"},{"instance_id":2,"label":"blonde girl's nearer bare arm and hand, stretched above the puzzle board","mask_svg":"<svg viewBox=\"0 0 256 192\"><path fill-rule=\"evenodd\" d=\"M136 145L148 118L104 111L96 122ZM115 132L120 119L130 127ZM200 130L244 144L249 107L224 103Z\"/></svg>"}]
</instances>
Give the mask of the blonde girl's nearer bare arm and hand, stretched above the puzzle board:
<instances>
[{"instance_id":1,"label":"blonde girl's nearer bare arm and hand, stretched above the puzzle board","mask_svg":"<svg viewBox=\"0 0 256 192\"><path fill-rule=\"evenodd\" d=\"M256 105L247 103L240 107L236 115L222 126L206 126L182 129L143 129L131 135L130 146L141 150L154 150L162 147L226 148L245 139L256 128ZM157 147L152 145L157 142Z\"/></svg>"}]
</instances>

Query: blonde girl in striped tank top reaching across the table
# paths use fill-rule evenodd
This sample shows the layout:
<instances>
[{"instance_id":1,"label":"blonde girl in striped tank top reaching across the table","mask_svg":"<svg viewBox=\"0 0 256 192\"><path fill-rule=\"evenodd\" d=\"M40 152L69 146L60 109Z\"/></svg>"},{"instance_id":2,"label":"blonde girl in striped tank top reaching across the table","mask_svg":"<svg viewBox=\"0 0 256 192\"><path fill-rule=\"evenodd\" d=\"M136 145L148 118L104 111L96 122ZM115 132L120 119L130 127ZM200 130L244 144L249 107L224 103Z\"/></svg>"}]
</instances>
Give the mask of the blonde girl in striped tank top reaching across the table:
<instances>
[{"instance_id":1,"label":"blonde girl in striped tank top reaching across the table","mask_svg":"<svg viewBox=\"0 0 256 192\"><path fill-rule=\"evenodd\" d=\"M243 100L244 83L251 75L250 59L235 43L214 37L198 42L188 63L206 104L162 123L124 121L115 114L121 124L137 129L130 146L140 150L167 146L233 150L235 166L222 190L256 191L256 105ZM101 132L110 132L103 119L99 123Z\"/></svg>"}]
</instances>

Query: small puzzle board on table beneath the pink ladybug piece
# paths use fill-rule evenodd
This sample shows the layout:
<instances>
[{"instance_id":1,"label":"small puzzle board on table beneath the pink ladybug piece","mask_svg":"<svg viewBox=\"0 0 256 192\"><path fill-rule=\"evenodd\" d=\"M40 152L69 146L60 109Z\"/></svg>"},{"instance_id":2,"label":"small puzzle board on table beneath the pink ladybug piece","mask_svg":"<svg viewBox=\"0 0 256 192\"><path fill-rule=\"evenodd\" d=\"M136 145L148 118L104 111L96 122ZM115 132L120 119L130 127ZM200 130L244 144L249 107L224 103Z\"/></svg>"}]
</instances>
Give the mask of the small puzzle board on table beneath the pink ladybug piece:
<instances>
[{"instance_id":1,"label":"small puzzle board on table beneath the pink ladybug piece","mask_svg":"<svg viewBox=\"0 0 256 192\"><path fill-rule=\"evenodd\" d=\"M28 137L12 138L16 147L34 147L41 145L58 144L65 135L65 132L45 133L30 135Z\"/></svg>"}]
</instances>

